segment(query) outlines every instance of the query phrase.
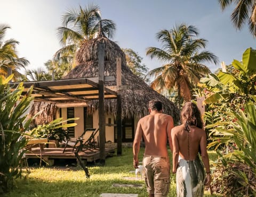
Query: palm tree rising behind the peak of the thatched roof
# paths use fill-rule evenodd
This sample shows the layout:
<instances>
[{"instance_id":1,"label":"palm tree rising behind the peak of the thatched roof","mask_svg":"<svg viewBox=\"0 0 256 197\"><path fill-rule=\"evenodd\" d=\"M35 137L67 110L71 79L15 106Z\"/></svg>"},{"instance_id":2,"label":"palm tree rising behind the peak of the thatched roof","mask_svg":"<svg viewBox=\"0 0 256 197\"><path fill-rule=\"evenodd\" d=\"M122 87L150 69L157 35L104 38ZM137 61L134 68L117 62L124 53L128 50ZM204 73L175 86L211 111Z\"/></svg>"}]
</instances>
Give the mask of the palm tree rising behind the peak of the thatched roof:
<instances>
[{"instance_id":1,"label":"palm tree rising behind the peak of the thatched roof","mask_svg":"<svg viewBox=\"0 0 256 197\"><path fill-rule=\"evenodd\" d=\"M116 30L116 25L111 20L101 18L98 5L89 5L85 8L79 6L78 10L71 9L62 15L63 27L57 29L63 47L55 53L53 61L63 62L61 58L73 60L69 66L74 67L75 55L79 47L87 40L98 35L101 28L103 35L111 38Z\"/></svg>"}]
</instances>

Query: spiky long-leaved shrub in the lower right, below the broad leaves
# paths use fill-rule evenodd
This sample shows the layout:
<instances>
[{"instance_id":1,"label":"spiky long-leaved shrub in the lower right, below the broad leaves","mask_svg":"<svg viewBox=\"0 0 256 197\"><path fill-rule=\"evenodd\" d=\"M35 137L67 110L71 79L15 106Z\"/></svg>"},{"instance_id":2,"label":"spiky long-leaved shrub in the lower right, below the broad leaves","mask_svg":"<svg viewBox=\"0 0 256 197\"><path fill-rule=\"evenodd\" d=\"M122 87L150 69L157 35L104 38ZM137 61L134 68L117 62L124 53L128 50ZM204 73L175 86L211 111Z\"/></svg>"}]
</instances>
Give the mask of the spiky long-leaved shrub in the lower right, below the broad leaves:
<instances>
[{"instance_id":1,"label":"spiky long-leaved shrub in the lower right, below the broad leaves","mask_svg":"<svg viewBox=\"0 0 256 197\"><path fill-rule=\"evenodd\" d=\"M222 143L229 143L229 151L225 155L218 152L221 162L225 167L226 187L223 191L228 196L246 194L246 196L256 195L256 105L246 104L245 110L239 109L225 112L233 118L233 121L217 122L213 132L218 136L209 147ZM235 121L234 121L235 120ZM213 125L208 125L211 127ZM228 128L228 129L227 129ZM217 145L218 144L218 145ZM223 169L222 169L223 170ZM228 181L229 180L229 181ZM239 188L239 190L237 190Z\"/></svg>"}]
</instances>

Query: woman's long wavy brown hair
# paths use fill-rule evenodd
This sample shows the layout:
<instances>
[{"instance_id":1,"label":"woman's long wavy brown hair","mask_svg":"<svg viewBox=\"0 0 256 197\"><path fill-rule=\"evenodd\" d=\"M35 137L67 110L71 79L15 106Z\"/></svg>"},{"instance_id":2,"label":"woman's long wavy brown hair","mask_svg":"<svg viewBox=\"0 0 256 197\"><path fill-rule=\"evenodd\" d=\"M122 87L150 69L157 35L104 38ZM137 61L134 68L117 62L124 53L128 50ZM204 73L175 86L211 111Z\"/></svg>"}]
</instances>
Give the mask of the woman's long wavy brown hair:
<instances>
[{"instance_id":1,"label":"woman's long wavy brown hair","mask_svg":"<svg viewBox=\"0 0 256 197\"><path fill-rule=\"evenodd\" d=\"M186 102L180 114L182 124L194 125L203 129L203 121L200 110L194 102Z\"/></svg>"}]
</instances>

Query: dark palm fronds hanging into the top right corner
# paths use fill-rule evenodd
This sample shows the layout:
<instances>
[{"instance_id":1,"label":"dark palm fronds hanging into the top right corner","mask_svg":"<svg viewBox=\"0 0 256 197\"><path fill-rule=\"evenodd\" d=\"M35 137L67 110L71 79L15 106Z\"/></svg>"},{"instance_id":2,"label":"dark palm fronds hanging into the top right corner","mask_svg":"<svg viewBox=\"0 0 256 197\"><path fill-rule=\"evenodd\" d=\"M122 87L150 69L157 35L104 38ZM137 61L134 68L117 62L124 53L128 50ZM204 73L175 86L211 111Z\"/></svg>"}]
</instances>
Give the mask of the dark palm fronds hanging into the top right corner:
<instances>
[{"instance_id":1,"label":"dark palm fronds hanging into the top right corner","mask_svg":"<svg viewBox=\"0 0 256 197\"><path fill-rule=\"evenodd\" d=\"M255 0L218 0L222 11L234 3L235 9L231 13L231 21L238 30L241 30L243 24L248 22L249 30L253 37L256 37L256 1Z\"/></svg>"}]
</instances>

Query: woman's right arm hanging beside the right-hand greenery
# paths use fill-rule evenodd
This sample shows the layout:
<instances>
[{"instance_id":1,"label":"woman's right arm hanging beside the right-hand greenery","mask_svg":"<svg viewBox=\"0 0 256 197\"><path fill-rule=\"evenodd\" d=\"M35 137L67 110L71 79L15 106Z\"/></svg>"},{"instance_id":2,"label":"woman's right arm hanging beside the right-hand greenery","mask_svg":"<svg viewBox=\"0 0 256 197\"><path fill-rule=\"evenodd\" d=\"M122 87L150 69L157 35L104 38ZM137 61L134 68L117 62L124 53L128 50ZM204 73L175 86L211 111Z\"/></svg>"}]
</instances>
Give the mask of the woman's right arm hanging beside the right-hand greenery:
<instances>
[{"instance_id":1,"label":"woman's right arm hanging beside the right-hand greenery","mask_svg":"<svg viewBox=\"0 0 256 197\"><path fill-rule=\"evenodd\" d=\"M209 162L209 156L208 156L207 148L206 148L206 133L205 133L205 131L203 131L203 132L204 133L200 140L201 157L202 157L202 161L204 163L204 167L206 170L205 185L209 185L211 183L210 162Z\"/></svg>"}]
</instances>

